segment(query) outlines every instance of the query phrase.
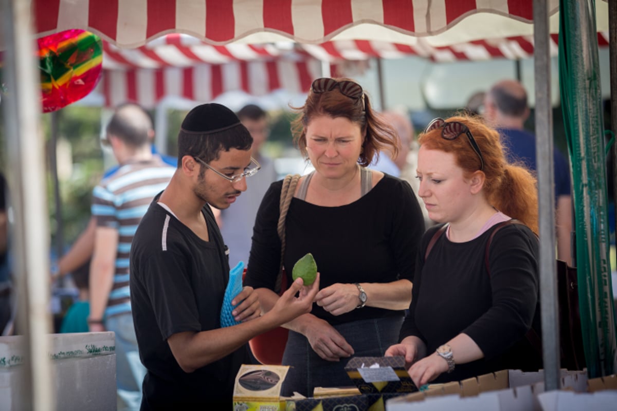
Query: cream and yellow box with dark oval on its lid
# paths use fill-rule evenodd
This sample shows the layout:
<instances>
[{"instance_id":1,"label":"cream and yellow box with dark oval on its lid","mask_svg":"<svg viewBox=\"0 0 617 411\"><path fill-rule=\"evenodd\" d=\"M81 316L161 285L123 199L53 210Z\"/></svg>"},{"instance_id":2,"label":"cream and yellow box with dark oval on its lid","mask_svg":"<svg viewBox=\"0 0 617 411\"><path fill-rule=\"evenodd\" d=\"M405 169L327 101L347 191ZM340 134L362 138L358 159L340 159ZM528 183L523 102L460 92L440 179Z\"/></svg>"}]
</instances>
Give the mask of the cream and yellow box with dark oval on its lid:
<instances>
[{"instance_id":1,"label":"cream and yellow box with dark oval on its lid","mask_svg":"<svg viewBox=\"0 0 617 411\"><path fill-rule=\"evenodd\" d=\"M284 411L281 386L288 370L286 365L242 365L233 390L234 411Z\"/></svg>"}]
</instances>

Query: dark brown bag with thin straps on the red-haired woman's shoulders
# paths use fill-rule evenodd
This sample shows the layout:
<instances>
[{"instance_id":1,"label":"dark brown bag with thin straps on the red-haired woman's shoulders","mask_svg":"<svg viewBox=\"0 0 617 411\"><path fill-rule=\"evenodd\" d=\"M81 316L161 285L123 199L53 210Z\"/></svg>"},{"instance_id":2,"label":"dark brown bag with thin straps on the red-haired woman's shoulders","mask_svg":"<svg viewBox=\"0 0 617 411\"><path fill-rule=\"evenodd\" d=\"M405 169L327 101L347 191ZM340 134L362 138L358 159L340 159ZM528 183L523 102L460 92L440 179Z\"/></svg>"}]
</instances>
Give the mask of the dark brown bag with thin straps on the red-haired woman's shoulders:
<instances>
[{"instance_id":1,"label":"dark brown bag with thin straps on the red-haired woman's shoulders","mask_svg":"<svg viewBox=\"0 0 617 411\"><path fill-rule=\"evenodd\" d=\"M491 248L491 242L495 233L502 227L509 224L523 224L522 222L511 219L508 221L500 222L492 230L491 237L489 237L486 243L486 250L484 251L484 264L486 271L491 275L489 269L489 249ZM426 247L424 252L424 261L431 252L431 249L444 234L447 229L447 224L437 230ZM561 368L568 370L582 370L586 367L585 351L582 343L582 327L581 327L581 312L579 311L579 298L578 298L578 277L576 274L576 268L568 266L566 262L556 260L557 264L557 294L559 304L559 337L560 337L560 359ZM542 357L542 338L540 333L536 332L534 328L530 328L529 332L525 335L529 343L534 347L537 354Z\"/></svg>"}]
</instances>

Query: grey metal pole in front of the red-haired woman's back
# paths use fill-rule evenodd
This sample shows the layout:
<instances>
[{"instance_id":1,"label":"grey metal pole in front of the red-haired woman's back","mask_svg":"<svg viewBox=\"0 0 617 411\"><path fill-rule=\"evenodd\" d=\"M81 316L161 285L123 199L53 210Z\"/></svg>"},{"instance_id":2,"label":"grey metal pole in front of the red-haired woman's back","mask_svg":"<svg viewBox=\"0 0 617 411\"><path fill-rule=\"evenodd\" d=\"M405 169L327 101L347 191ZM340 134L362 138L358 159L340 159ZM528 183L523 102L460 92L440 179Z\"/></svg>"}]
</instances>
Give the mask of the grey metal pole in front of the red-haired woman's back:
<instances>
[{"instance_id":1,"label":"grey metal pole in front of the red-haired woman's back","mask_svg":"<svg viewBox=\"0 0 617 411\"><path fill-rule=\"evenodd\" d=\"M549 14L545 0L534 0L534 71L536 87L536 155L540 241L542 357L547 391L560 388L559 311L555 266L555 181L553 118L550 101Z\"/></svg>"}]
</instances>

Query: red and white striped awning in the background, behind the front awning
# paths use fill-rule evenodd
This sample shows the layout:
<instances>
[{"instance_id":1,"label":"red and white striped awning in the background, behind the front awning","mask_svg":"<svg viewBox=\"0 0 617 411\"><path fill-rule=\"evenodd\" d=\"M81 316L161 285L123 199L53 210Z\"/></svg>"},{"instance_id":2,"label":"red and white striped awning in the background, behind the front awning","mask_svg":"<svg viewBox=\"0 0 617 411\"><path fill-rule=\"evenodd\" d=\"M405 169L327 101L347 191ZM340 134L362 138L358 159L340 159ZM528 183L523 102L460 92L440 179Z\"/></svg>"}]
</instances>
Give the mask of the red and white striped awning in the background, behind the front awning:
<instances>
[{"instance_id":1,"label":"red and white striped awning in the background, behind the front awning","mask_svg":"<svg viewBox=\"0 0 617 411\"><path fill-rule=\"evenodd\" d=\"M557 54L557 35L550 49ZM608 33L598 33L598 45L608 45ZM274 44L212 46L186 35L167 35L138 49L118 49L104 44L104 76L99 87L107 107L135 101L154 107L167 96L207 102L224 92L244 91L266 96L278 89L307 92L312 79L321 75L321 61L337 63L373 57L394 59L418 55L434 62L455 60L525 59L533 55L533 39L478 40L453 46L415 46L381 41L349 40L300 44L300 52ZM302 52L304 51L304 53Z\"/></svg>"}]
</instances>

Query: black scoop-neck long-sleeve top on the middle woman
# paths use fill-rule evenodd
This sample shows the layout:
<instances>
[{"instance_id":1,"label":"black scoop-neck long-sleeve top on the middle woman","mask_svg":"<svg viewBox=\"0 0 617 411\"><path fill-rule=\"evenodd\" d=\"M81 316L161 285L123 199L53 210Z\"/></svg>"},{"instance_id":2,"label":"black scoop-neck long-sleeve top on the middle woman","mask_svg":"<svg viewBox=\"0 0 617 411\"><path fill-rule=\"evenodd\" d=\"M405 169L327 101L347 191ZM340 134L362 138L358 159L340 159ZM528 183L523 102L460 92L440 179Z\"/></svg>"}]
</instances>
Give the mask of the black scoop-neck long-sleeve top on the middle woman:
<instances>
[{"instance_id":1,"label":"black scoop-neck long-sleeve top on the middle woman","mask_svg":"<svg viewBox=\"0 0 617 411\"><path fill-rule=\"evenodd\" d=\"M276 226L282 186L281 181L270 186L257 212L244 285L275 287L281 258ZM312 253L321 274L320 288L325 288L334 283L412 280L424 219L410 185L386 174L348 205L324 207L293 198L285 227L288 283L296 261ZM312 314L334 325L403 315L403 311L367 306L335 316L314 304Z\"/></svg>"}]
</instances>

